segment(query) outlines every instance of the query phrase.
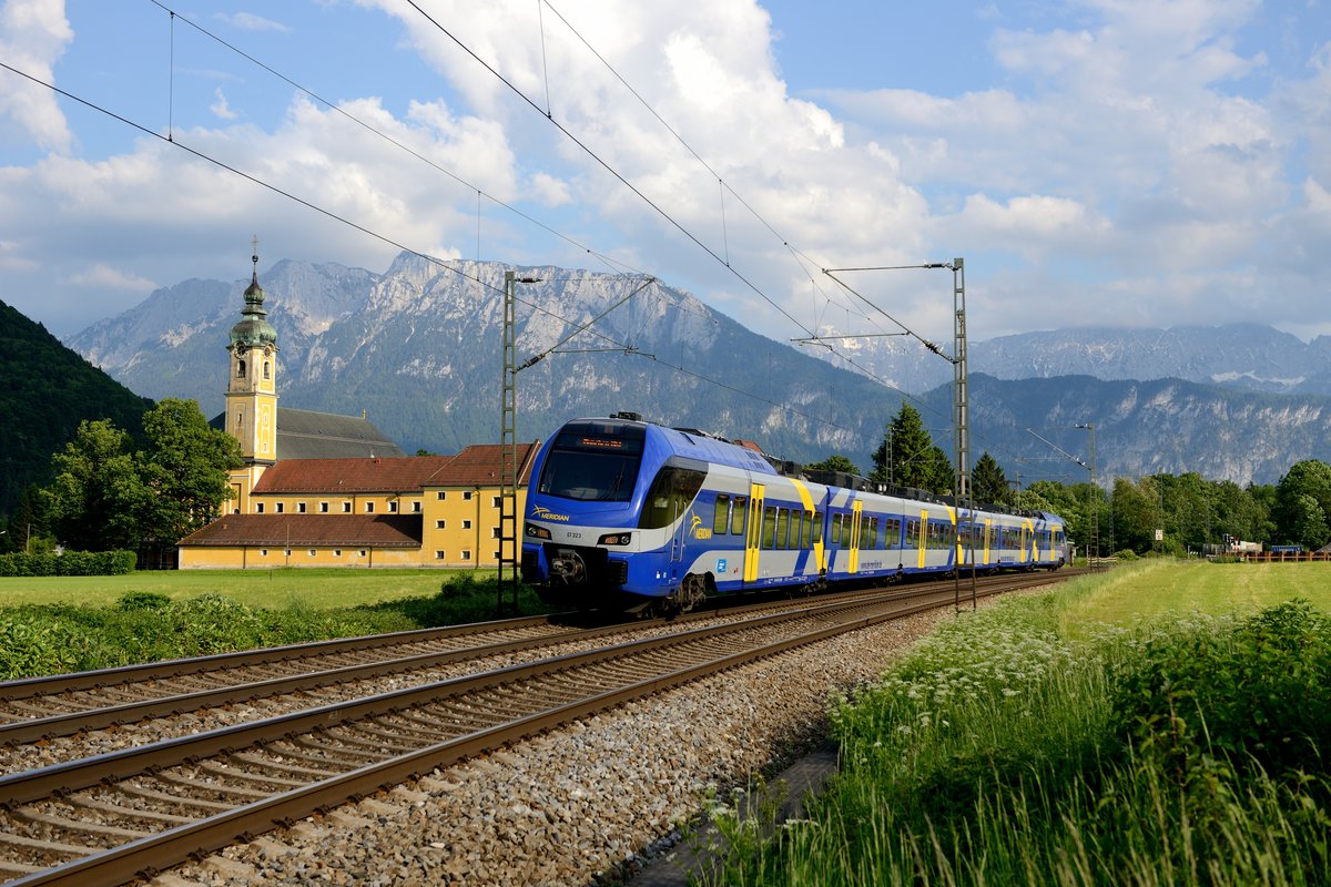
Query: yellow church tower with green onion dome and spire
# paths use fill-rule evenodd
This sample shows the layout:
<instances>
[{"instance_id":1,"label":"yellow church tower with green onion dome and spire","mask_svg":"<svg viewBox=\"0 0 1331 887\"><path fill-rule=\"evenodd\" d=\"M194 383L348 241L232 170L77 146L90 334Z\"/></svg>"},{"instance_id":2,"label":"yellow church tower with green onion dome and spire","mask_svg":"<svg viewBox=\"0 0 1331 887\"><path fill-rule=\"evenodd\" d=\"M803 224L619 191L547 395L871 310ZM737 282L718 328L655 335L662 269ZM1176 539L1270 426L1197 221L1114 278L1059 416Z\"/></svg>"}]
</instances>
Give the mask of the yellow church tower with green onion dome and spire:
<instances>
[{"instance_id":1,"label":"yellow church tower with green onion dome and spire","mask_svg":"<svg viewBox=\"0 0 1331 887\"><path fill-rule=\"evenodd\" d=\"M258 285L258 238L254 269L245 289L242 319L232 327L226 384L226 432L241 443L245 465L232 472L232 507L249 513L249 492L264 469L277 461L277 330L264 310Z\"/></svg>"}]
</instances>

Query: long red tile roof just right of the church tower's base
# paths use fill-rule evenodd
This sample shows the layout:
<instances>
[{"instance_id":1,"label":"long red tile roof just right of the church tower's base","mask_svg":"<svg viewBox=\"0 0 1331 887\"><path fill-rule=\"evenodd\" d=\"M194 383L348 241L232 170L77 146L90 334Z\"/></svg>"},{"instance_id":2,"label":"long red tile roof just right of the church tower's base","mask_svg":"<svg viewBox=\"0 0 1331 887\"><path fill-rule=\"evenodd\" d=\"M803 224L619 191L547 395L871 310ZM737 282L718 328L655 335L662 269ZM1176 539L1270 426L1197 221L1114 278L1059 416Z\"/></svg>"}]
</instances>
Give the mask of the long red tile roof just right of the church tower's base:
<instances>
[{"instance_id":1,"label":"long red tile roof just right of the church tower's base","mask_svg":"<svg viewBox=\"0 0 1331 887\"><path fill-rule=\"evenodd\" d=\"M453 459L455 456L281 459L258 479L253 495L418 492Z\"/></svg>"}]
</instances>

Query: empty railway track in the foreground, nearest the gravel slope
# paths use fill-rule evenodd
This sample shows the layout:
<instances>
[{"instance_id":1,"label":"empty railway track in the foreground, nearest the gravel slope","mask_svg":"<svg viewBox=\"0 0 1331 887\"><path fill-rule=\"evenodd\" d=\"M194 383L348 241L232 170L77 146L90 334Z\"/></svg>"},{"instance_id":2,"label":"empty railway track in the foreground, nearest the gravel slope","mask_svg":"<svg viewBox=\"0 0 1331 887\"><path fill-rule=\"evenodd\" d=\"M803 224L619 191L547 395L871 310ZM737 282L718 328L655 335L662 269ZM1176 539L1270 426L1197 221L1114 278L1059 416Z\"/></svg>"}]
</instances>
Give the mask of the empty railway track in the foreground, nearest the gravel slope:
<instances>
[{"instance_id":1,"label":"empty railway track in the foreground, nearest the gravel slope","mask_svg":"<svg viewBox=\"0 0 1331 887\"><path fill-rule=\"evenodd\" d=\"M980 593L1004 590L1004 578ZM11 774L0 778L0 875L124 882L628 699L954 598L938 584L860 593Z\"/></svg>"}]
</instances>

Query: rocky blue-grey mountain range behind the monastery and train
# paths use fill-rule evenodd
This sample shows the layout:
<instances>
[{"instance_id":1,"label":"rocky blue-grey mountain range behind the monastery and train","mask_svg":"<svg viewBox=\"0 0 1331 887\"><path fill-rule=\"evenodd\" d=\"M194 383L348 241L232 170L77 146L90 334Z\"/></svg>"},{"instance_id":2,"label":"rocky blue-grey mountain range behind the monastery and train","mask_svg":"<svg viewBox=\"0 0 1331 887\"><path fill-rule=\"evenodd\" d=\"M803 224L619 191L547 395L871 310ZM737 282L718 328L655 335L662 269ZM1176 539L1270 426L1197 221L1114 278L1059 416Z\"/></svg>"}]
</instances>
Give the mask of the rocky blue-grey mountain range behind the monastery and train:
<instances>
[{"instance_id":1,"label":"rocky blue-grey mountain range behind the monastery and train","mask_svg":"<svg viewBox=\"0 0 1331 887\"><path fill-rule=\"evenodd\" d=\"M282 261L260 277L280 336L281 403L365 411L407 452L498 440L508 270L538 281L515 287L516 362L534 360L516 375L520 439L631 410L795 461L839 452L868 467L908 391L952 452L952 367L917 343L796 348L659 281L413 254L383 274ZM246 283L157 290L68 344L137 394L194 398L213 415ZM969 355L972 459L989 451L1014 480L1085 480L1078 424L1095 426L1101 479L1195 471L1274 483L1300 459L1331 460L1326 336L1303 343L1264 326L1061 330L974 342Z\"/></svg>"}]
</instances>

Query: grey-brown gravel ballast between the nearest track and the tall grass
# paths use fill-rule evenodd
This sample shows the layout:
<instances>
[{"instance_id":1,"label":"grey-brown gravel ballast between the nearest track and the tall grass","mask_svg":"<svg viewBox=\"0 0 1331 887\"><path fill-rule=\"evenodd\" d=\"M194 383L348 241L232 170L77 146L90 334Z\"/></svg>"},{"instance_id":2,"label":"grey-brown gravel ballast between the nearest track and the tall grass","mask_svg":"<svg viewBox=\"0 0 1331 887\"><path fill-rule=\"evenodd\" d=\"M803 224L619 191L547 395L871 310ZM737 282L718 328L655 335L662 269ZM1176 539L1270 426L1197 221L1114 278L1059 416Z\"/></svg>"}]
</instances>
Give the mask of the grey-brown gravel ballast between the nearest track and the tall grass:
<instances>
[{"instance_id":1,"label":"grey-brown gravel ballast between the nearest track and the tall grass","mask_svg":"<svg viewBox=\"0 0 1331 887\"><path fill-rule=\"evenodd\" d=\"M828 694L872 681L952 608L642 699L233 844L154 879L208 884L616 884L669 855L708 790L796 753Z\"/></svg>"}]
</instances>

